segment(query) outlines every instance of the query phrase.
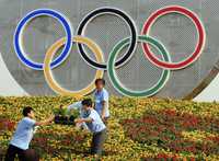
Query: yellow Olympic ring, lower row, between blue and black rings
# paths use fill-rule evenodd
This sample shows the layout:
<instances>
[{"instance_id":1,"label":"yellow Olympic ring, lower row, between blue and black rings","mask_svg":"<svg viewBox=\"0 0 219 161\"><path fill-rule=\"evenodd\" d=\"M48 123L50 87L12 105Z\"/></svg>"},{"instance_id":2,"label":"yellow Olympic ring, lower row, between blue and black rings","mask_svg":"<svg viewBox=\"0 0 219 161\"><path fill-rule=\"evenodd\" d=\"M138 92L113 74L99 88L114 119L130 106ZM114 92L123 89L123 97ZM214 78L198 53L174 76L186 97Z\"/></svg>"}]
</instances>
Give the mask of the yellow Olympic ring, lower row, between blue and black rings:
<instances>
[{"instance_id":1,"label":"yellow Olympic ring, lower row, between blue and black rings","mask_svg":"<svg viewBox=\"0 0 219 161\"><path fill-rule=\"evenodd\" d=\"M74 36L72 38L73 42L76 43L81 43L87 45L95 55L97 62L104 62L104 58L103 58L103 53L101 50L101 48L90 38L87 37L81 37L81 36ZM94 89L95 89L95 79L97 78L103 78L104 71L103 70L96 70L95 73L95 78L94 80L84 89L80 90L80 91L69 91L66 90L64 88L61 88L57 81L53 78L53 73L50 70L50 64L51 64L51 59L55 55L55 53L66 43L66 38L61 38L59 41L57 41L55 44L53 44L49 49L46 53L46 57L44 60L44 76L45 79L48 83L48 85L58 94L61 95L69 95L69 96L83 96L87 95L89 93L91 93Z\"/></svg>"}]
</instances>

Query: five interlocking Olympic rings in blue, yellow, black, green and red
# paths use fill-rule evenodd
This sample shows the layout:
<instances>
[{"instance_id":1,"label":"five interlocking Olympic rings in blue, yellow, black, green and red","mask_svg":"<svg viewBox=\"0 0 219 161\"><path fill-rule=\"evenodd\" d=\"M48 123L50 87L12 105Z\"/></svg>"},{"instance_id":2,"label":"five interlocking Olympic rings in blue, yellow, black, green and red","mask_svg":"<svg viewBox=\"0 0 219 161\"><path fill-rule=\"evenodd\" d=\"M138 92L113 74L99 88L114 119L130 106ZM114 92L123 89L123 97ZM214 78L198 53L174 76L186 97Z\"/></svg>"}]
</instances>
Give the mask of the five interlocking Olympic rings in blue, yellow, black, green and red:
<instances>
[{"instance_id":1,"label":"five interlocking Olympic rings in blue, yellow, black, green and red","mask_svg":"<svg viewBox=\"0 0 219 161\"><path fill-rule=\"evenodd\" d=\"M170 53L166 50L166 48L159 41L150 36L150 28L153 25L153 23L157 22L160 16L163 16L169 13L180 13L187 16L188 19L193 21L198 33L198 42L197 42L194 53L189 57L178 62L172 62ZM84 31L89 22L91 22L96 16L104 15L104 14L113 14L123 19L128 25L130 35L131 35L130 37L122 39L120 42L116 44L116 46L110 53L110 57L107 61L104 60L103 51L99 47L99 45L96 45L92 39L85 37L84 35ZM25 26L33 19L41 15L47 15L47 16L51 16L58 20L64 26L65 33L67 35L66 37L58 39L55 44L53 44L48 48L48 50L46 51L44 64L39 64L39 62L35 62L31 60L27 57L27 54L25 54L23 49L23 42L22 42ZM138 35L137 27L135 25L134 20L125 11L116 9L116 8L110 8L110 7L99 8L96 10L93 10L89 14L87 14L78 26L77 35L73 35L72 25L70 21L64 14L51 9L38 9L38 10L34 10L27 13L19 22L15 33L14 33L13 42L14 42L14 50L16 53L16 56L21 60L21 62L31 69L44 70L44 76L48 85L58 94L71 95L71 96L87 95L95 89L94 80L96 78L102 78L104 74L104 70L107 70L108 78L113 87L120 94L127 95L127 96L151 96L158 93L165 85L166 81L169 80L171 70L178 70L178 69L186 68L198 59L198 57L201 55L203 49L205 47L206 32L198 15L194 13L193 11L181 5L168 5L153 12L145 22L142 31L141 31L141 35ZM153 87L146 89L143 91L132 91L123 85L123 83L119 81L119 79L117 78L115 73L115 68L122 67L123 65L128 62L128 60L132 57L136 50L137 44L139 42L142 45L142 49L143 49L146 58L150 60L152 65L163 69L163 71L159 81ZM94 80L87 88L80 91L69 91L69 90L62 89L56 82L51 73L51 69L58 67L59 65L61 65L62 61L65 61L68 58L73 44L77 44L78 51L81 55L82 59L89 66L96 69ZM150 47L148 44L152 45L159 50L159 54L161 54L162 59L158 58L150 50ZM93 51L93 54L96 57L96 60L93 60L92 58L88 56L84 49L84 45L87 45L87 47L89 47L91 51ZM61 46L64 46L61 54L55 60L53 60L55 53ZM120 59L116 60L118 53L125 47L128 48L127 51Z\"/></svg>"}]
</instances>

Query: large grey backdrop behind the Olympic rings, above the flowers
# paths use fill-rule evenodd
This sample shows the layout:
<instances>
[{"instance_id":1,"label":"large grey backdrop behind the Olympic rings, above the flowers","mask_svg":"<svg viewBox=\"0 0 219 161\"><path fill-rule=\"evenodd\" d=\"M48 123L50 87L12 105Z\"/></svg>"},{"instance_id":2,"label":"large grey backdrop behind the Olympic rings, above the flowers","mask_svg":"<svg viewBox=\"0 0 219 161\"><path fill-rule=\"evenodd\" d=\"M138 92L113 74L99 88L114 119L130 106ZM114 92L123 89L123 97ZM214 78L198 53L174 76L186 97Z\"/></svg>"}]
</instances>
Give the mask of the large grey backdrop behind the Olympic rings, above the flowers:
<instances>
[{"instance_id":1,"label":"large grey backdrop behind the Olympic rings, above the flowers","mask_svg":"<svg viewBox=\"0 0 219 161\"><path fill-rule=\"evenodd\" d=\"M154 96L172 99L193 99L200 101L218 100L219 78L219 1L217 0L1 0L0 1L0 95L53 95L55 92L47 84L43 71L33 70L23 65L18 58L13 36L19 22L27 13L36 9L53 9L69 19L77 35L77 28L83 18L97 8L116 8L125 11L141 35L146 20L157 10L169 5L184 7L195 14L203 23L206 32L206 44L200 57L191 66L171 71L169 81ZM65 37L65 30L54 18L38 16L32 20L23 33L23 47L28 58L43 62L48 48L59 38ZM114 15L104 14L93 19L84 31L84 36L94 41L103 50L107 61L114 46L126 37L130 31L126 22ZM173 62L187 58L195 49L198 33L195 24L187 16L180 13L170 13L159 18L152 25L150 36L158 39L166 48ZM92 51L85 47L89 56L95 60ZM158 49L152 48L158 54ZM119 58L127 51L122 50ZM61 49L57 53L61 53ZM53 70L54 78L65 89L80 90L87 87L94 78L96 69L85 62L73 44L67 60ZM116 69L116 76L125 87L131 90L145 90L155 84L163 69L151 64L146 56L141 44L129 61ZM116 90L104 73L106 88L111 94L123 95ZM212 81L212 84L210 82ZM204 90L206 87L210 87ZM204 90L203 93L200 93ZM215 96L215 97L214 97Z\"/></svg>"}]
</instances>

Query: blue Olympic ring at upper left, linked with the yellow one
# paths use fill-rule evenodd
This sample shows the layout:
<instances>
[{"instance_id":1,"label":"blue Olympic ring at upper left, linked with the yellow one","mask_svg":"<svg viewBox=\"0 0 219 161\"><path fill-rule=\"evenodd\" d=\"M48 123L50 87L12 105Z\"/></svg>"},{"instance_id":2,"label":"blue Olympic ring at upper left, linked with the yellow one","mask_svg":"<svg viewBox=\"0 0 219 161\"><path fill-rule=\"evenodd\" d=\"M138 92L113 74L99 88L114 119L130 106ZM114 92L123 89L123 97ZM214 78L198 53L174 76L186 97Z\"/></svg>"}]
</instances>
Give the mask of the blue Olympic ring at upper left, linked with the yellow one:
<instances>
[{"instance_id":1,"label":"blue Olympic ring at upper left, linked with the yellow one","mask_svg":"<svg viewBox=\"0 0 219 161\"><path fill-rule=\"evenodd\" d=\"M25 27L26 23L28 23L31 20L33 20L36 16L41 16L41 15L48 15L48 16L53 16L55 19L57 19L61 25L65 28L66 35L67 35L67 42L65 44L64 50L61 51L61 54L50 64L50 68L56 68L57 66L59 66L62 61L66 60L66 58L69 56L71 47L72 47L72 43L71 43L71 38L72 38L72 28L71 28L71 24L68 22L68 20L65 18L65 15L62 15L61 13L50 10L50 9L38 9L38 10L34 10L32 12L30 12L28 14L26 14L18 24L15 33L14 33L14 49L15 53L19 57L19 59L27 67L35 69L35 70L43 70L44 65L43 64L38 64L38 62L34 62L30 59L27 59L25 57L25 54L22 51L21 49L21 44L20 44L20 36L22 33L23 27Z\"/></svg>"}]
</instances>

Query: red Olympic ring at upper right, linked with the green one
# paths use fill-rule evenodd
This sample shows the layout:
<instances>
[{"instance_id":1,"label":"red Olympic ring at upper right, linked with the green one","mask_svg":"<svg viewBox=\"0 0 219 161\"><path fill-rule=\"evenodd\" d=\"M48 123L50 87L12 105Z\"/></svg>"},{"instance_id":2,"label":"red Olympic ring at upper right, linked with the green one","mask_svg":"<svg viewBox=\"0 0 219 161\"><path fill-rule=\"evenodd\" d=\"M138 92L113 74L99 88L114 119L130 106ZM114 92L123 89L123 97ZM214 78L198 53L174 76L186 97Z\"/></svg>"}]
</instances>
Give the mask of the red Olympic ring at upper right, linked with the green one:
<instances>
[{"instance_id":1,"label":"red Olympic ring at upper right, linked with the green one","mask_svg":"<svg viewBox=\"0 0 219 161\"><path fill-rule=\"evenodd\" d=\"M143 24L143 28L141 32L142 35L149 34L150 27L157 21L158 18L165 15L168 13L172 13L172 12L181 13L181 14L189 18L195 23L196 28L198 31L198 35L199 35L198 44L195 48L195 51L188 58L186 58L185 60L182 60L180 62L165 62L165 61L162 61L159 58L157 58L155 55L150 51L150 47L148 46L148 44L143 43L142 48L143 48L146 57L155 66L165 68L165 69L176 70L176 69L182 69L182 68L189 66L200 56L200 54L204 49L204 46L205 46L206 33L205 33L205 28L204 28L200 20L194 12L189 11L186 8L180 7L180 5L170 5L170 7L165 7L165 8L162 8L160 10L155 11L148 18L148 20Z\"/></svg>"}]
</instances>

